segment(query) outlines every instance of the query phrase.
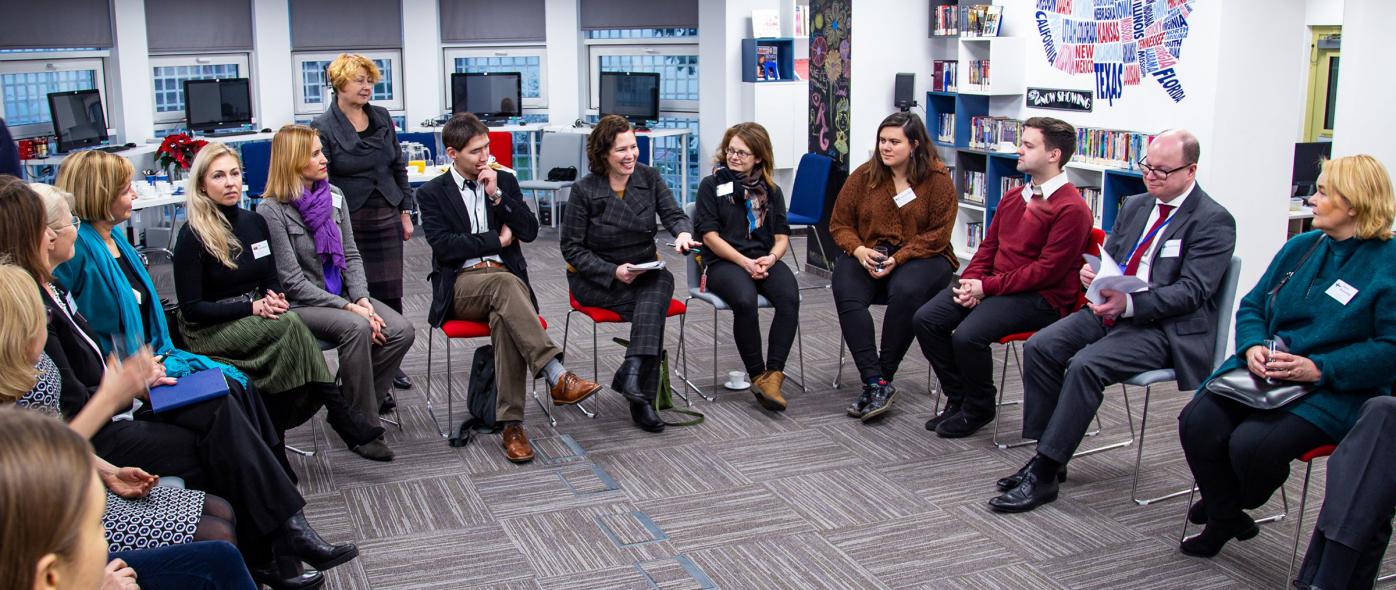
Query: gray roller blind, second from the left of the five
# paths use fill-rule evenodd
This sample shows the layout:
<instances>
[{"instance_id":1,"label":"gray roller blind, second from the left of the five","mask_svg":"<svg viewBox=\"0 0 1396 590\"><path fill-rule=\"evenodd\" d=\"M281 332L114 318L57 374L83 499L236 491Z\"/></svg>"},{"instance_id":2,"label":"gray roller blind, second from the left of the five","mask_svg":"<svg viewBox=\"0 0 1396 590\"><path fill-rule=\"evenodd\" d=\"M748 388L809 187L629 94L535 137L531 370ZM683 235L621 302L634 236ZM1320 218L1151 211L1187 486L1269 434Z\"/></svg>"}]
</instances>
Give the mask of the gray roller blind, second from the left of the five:
<instances>
[{"instance_id":1,"label":"gray roller blind, second from the left of the five","mask_svg":"<svg viewBox=\"0 0 1396 590\"><path fill-rule=\"evenodd\" d=\"M151 53L250 52L251 0L145 0L145 45Z\"/></svg>"}]
</instances>

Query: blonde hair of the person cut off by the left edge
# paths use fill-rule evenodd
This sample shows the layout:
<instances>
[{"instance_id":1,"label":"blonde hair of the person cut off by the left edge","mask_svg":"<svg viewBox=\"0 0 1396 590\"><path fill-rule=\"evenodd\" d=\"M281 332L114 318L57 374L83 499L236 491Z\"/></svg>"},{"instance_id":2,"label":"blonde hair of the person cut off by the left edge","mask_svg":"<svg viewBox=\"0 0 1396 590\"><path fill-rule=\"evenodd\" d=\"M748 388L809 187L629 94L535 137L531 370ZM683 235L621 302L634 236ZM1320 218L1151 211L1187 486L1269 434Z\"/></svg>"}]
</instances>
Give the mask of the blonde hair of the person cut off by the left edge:
<instances>
[{"instance_id":1,"label":"blonde hair of the person cut off by the left edge","mask_svg":"<svg viewBox=\"0 0 1396 590\"><path fill-rule=\"evenodd\" d=\"M0 261L0 402L14 403L34 389L39 372L29 357L29 346L46 333L45 321L34 276L8 261Z\"/></svg>"}]
</instances>

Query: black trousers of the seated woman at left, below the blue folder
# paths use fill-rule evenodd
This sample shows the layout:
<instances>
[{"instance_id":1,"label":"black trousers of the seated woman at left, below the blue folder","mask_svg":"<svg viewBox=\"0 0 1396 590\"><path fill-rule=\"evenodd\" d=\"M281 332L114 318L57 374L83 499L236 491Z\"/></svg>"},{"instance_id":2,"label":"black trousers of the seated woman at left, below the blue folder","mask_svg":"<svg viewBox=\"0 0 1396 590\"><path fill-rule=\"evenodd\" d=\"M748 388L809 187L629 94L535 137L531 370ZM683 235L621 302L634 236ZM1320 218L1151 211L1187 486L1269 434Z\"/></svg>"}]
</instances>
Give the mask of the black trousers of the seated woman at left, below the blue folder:
<instances>
[{"instance_id":1,"label":"black trousers of the seated woman at left, below the blue folder","mask_svg":"<svg viewBox=\"0 0 1396 590\"><path fill-rule=\"evenodd\" d=\"M107 423L92 446L113 464L183 477L191 488L228 499L237 515L239 544L247 551L306 501L261 398L236 381L229 384L232 392L223 398Z\"/></svg>"}]
</instances>

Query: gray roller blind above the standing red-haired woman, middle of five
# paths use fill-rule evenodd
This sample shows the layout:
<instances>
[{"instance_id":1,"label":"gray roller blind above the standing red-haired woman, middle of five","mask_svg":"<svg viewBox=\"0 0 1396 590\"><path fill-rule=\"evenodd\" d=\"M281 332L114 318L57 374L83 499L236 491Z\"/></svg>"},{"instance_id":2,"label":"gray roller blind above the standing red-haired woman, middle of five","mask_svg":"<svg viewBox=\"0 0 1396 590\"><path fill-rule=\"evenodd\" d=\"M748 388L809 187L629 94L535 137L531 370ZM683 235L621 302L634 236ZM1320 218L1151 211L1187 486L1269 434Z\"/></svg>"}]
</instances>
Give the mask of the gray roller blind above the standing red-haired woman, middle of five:
<instances>
[{"instance_id":1,"label":"gray roller blind above the standing red-haired woman, middle of five","mask_svg":"<svg viewBox=\"0 0 1396 590\"><path fill-rule=\"evenodd\" d=\"M290 49L402 49L399 0L289 0Z\"/></svg>"}]
</instances>

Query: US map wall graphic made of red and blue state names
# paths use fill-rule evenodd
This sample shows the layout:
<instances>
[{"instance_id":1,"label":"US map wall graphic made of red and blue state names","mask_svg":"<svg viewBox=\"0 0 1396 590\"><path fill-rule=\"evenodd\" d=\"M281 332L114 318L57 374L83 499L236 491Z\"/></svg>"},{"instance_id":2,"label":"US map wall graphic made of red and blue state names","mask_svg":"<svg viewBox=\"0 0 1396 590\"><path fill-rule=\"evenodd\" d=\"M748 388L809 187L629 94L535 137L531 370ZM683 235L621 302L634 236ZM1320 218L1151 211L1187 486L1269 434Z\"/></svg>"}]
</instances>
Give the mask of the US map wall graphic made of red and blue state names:
<instances>
[{"instance_id":1,"label":"US map wall graphic made of red and blue state names","mask_svg":"<svg viewBox=\"0 0 1396 590\"><path fill-rule=\"evenodd\" d=\"M1194 0L1036 0L1033 18L1051 67L1096 81L1096 99L1114 106L1145 80L1173 102Z\"/></svg>"}]
</instances>

